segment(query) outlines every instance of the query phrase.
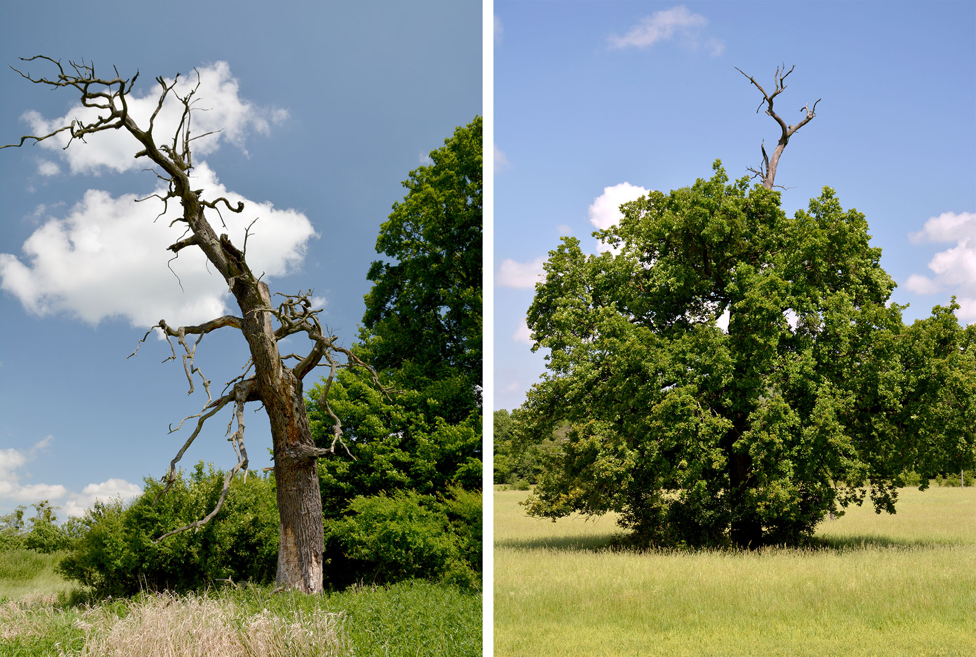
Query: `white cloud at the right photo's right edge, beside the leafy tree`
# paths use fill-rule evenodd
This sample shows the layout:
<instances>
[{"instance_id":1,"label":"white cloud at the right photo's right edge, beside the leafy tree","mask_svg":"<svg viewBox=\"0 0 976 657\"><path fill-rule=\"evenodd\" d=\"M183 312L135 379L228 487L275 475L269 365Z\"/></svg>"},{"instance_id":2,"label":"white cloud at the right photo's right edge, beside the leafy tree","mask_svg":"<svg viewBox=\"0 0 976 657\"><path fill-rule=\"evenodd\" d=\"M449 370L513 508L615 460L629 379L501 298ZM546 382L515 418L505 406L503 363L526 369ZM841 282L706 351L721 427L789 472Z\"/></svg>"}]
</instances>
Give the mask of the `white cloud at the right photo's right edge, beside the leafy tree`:
<instances>
[{"instance_id":1,"label":"white cloud at the right photo's right edge, beside the leafy tree","mask_svg":"<svg viewBox=\"0 0 976 657\"><path fill-rule=\"evenodd\" d=\"M916 294L948 292L956 295L958 317L976 321L976 213L942 213L925 221L909 235L914 244L954 244L939 251L928 263L933 276L912 274L904 286Z\"/></svg>"}]
</instances>

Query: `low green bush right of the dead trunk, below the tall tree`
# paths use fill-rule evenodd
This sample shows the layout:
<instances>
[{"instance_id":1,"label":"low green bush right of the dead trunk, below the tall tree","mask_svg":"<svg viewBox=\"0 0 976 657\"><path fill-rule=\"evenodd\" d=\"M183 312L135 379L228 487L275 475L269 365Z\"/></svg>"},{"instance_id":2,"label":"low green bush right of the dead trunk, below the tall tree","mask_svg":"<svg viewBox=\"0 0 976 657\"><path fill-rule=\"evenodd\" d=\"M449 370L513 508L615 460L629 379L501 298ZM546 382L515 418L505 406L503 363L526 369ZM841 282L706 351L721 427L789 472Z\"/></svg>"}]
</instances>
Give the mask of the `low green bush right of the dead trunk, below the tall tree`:
<instances>
[{"instance_id":1,"label":"low green bush right of the dead trunk, below the tall tree","mask_svg":"<svg viewBox=\"0 0 976 657\"><path fill-rule=\"evenodd\" d=\"M326 524L326 568L334 585L384 584L413 578L480 587L480 495L461 489L438 500L414 491L356 497L349 515Z\"/></svg>"}]
</instances>

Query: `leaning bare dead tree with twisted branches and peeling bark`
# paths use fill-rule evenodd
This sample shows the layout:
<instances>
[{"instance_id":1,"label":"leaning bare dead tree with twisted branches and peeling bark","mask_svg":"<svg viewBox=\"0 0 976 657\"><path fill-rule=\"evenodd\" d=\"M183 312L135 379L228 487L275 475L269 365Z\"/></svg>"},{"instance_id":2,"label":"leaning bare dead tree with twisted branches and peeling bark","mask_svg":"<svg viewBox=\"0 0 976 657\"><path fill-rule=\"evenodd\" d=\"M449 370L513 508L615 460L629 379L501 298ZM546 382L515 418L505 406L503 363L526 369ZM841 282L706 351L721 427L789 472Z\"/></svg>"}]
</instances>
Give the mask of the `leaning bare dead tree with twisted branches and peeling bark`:
<instances>
[{"instance_id":1,"label":"leaning bare dead tree with twisted branches and peeling bark","mask_svg":"<svg viewBox=\"0 0 976 657\"><path fill-rule=\"evenodd\" d=\"M165 320L160 320L140 340L142 344L154 329L162 331L173 352L173 355L166 359L169 361L175 360L178 356L177 347L173 344L173 338L176 338L183 352L180 356L190 392L193 392L193 376L197 375L207 394L207 404L203 409L196 415L183 419L185 422L195 418L196 426L170 463L169 472L162 478L166 483L163 493L173 484L177 463L200 434L204 423L224 406L232 406L234 409L230 424L227 425L227 434L237 455L237 463L227 474L224 490L216 508L205 518L176 528L161 536L160 540L186 529L197 530L206 522L210 522L220 511L233 475L242 470L245 475L247 472L248 459L244 448L244 405L248 402L260 402L267 411L271 425L273 471L277 484L278 513L281 519L276 581L280 586L288 589L306 593L321 591L324 545L322 499L319 493L316 461L320 457L335 454L337 447L346 447L342 441L342 425L329 407L329 387L341 367L364 367L372 373L374 383L386 393L380 385L376 372L356 358L351 351L337 344L337 337L332 334L332 331L322 327L318 319L322 309L312 309L309 300L311 290L299 294L280 294L284 300L278 305L273 305L267 284L261 281L260 276L255 276L247 263L249 231L245 231L243 244L238 249L225 233L218 235L206 218L205 213L208 210L215 211L220 216L219 206L222 204L224 209L231 213L243 211L244 204L238 202L236 206L231 206L223 197L205 199L202 196L203 190L193 189L190 177L193 169L190 144L194 139L205 136L192 135L190 131L192 105L199 89L199 79L196 87L184 96L180 96L176 89L179 75L169 83L162 77L157 77L160 91L155 111L148 118L147 125L140 126L129 115L127 103L127 97L139 77L138 72L132 78L124 79L119 76L116 69L115 77L100 78L96 76L95 66L90 62L82 61L79 64L70 61L68 66L62 66L61 61L45 56L21 59L24 61L41 59L57 66L58 75L54 79L33 77L29 72L24 73L16 68L14 70L35 84L54 89L73 88L81 95L82 105L98 110L98 117L88 122L72 121L69 125L48 135L24 135L20 137L20 143L7 144L2 148L22 146L28 139L36 143L63 132L70 135L65 148L70 146L74 139L84 140L87 135L105 130L125 130L133 135L142 146L136 153L136 157L146 158L153 167L151 171L165 180L168 185L165 194L152 194L141 200L157 198L163 204L163 213L166 212L171 200L178 201L183 208L183 215L174 219L171 225L182 222L186 230L178 242L168 247L169 251L179 254L183 249L191 247L203 251L207 259L224 276L224 281L240 308L240 316L225 315L192 327L173 328ZM159 140L156 135L153 135L154 122L167 98L181 103L182 116L175 134L165 135L163 140ZM223 224L224 219L220 218ZM196 347L203 336L219 328L240 330L250 347L251 358L243 367L244 373L227 382L224 393L219 398L213 399L210 381L196 366L194 358ZM278 351L278 341L296 333L305 333L313 346L305 355L283 356ZM192 344L186 340L190 335L197 336ZM138 348L137 346L137 350ZM292 360L295 361L292 367L286 366L286 362ZM302 381L305 375L319 366L329 367L323 393L318 400L319 406L334 422L333 441L329 447L315 446L303 397ZM236 430L231 434L230 430L235 421ZM180 426L183 426L183 422ZM171 433L177 429L171 427ZM347 449L346 454L348 454Z\"/></svg>"}]
</instances>

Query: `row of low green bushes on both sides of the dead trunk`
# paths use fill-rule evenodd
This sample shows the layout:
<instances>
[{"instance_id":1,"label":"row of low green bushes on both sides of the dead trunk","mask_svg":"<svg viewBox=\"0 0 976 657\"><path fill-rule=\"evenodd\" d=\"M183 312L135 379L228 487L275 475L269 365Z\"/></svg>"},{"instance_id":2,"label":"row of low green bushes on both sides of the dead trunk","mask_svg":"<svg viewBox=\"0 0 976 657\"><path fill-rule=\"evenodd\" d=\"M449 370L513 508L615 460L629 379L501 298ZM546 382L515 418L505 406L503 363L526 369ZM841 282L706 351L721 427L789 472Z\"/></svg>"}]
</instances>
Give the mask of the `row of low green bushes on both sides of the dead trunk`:
<instances>
[{"instance_id":1,"label":"row of low green bushes on both sides of the dead trunk","mask_svg":"<svg viewBox=\"0 0 976 657\"><path fill-rule=\"evenodd\" d=\"M131 504L96 502L73 522L70 545L60 544L68 551L59 571L99 597L186 592L227 579L272 581L278 553L272 477L235 476L211 522L158 540L206 516L217 504L224 476L199 463L188 477L181 471L158 501L162 484L146 479L142 496ZM332 588L424 578L480 589L480 493L451 487L436 496L359 496L341 519L325 522L325 533L324 578Z\"/></svg>"}]
</instances>

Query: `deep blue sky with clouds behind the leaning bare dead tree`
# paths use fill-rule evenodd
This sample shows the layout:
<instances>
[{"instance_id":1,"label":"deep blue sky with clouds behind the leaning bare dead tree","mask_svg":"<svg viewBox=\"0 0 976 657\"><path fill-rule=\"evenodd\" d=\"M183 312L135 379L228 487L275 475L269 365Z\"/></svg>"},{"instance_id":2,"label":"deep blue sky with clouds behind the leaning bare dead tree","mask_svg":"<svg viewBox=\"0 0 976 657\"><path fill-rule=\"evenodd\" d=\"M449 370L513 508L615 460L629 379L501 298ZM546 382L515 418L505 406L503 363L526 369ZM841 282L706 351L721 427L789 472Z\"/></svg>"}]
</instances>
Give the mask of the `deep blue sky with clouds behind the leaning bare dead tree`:
<instances>
[{"instance_id":1,"label":"deep blue sky with clouds behind the leaning bare dead tree","mask_svg":"<svg viewBox=\"0 0 976 657\"><path fill-rule=\"evenodd\" d=\"M400 181L482 112L480 4L230 6L4 3L0 142L73 116L77 103L7 68L19 57L85 58L105 77L112 65L124 77L139 70L134 97L154 94L156 76L196 67L208 109L198 125L224 128L199 142L201 185L249 202L262 217L249 259L272 291L314 289L323 319L349 344ZM0 151L0 513L44 498L61 515L77 513L96 495L130 493L161 476L185 440L186 431L167 435L168 425L206 402L187 397L179 362L160 363L165 342L150 337L126 359L160 317L203 321L223 314L227 299L199 260L173 264L186 291L166 269L163 250L175 239L164 220L152 223L159 208L133 202L156 179L134 166L135 142L122 137ZM243 339L227 329L202 341L196 363L219 392L245 359ZM183 464L234 463L225 415ZM246 422L251 467L264 467L264 413Z\"/></svg>"}]
</instances>

